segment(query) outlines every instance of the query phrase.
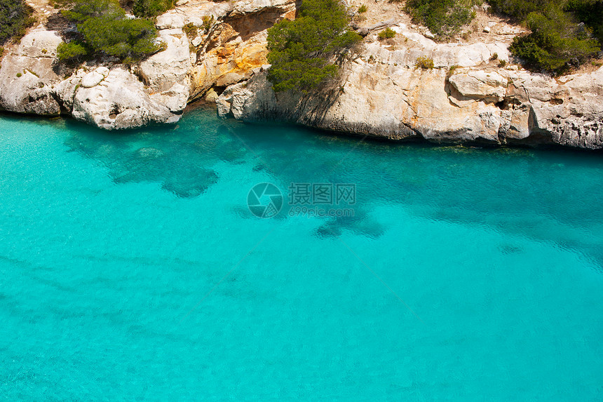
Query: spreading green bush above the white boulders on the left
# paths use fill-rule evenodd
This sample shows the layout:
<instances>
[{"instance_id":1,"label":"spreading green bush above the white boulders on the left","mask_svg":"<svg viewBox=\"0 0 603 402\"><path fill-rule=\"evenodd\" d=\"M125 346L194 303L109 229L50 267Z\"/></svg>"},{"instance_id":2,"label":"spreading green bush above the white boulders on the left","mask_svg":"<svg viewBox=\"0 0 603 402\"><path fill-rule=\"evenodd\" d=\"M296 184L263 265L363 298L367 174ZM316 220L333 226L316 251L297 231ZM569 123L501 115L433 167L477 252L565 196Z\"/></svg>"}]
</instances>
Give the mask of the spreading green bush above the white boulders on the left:
<instances>
[{"instance_id":1,"label":"spreading green bush above the white boulders on the left","mask_svg":"<svg viewBox=\"0 0 603 402\"><path fill-rule=\"evenodd\" d=\"M62 14L76 24L77 37L58 48L60 60L80 61L89 56L109 56L135 62L160 50L152 18L128 18L117 0L62 1ZM168 0L137 0L133 11L153 17L173 6Z\"/></svg>"}]
</instances>

